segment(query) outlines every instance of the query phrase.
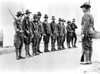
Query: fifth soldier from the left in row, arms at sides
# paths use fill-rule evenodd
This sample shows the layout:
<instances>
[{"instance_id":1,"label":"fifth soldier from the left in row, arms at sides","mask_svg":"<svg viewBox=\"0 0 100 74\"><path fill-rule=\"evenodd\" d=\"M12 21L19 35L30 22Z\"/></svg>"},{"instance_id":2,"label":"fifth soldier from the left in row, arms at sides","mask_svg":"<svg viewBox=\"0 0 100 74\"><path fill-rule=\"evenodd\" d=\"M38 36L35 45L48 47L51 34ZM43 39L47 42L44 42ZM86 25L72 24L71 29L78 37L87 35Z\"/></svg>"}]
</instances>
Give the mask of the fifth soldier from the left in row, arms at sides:
<instances>
[{"instance_id":1,"label":"fifth soldier from the left in row, arms at sides","mask_svg":"<svg viewBox=\"0 0 100 74\"><path fill-rule=\"evenodd\" d=\"M44 41L44 52L49 52L48 50L48 43L51 35L50 24L48 23L48 15L44 15L44 22L43 22L43 41Z\"/></svg>"}]
</instances>

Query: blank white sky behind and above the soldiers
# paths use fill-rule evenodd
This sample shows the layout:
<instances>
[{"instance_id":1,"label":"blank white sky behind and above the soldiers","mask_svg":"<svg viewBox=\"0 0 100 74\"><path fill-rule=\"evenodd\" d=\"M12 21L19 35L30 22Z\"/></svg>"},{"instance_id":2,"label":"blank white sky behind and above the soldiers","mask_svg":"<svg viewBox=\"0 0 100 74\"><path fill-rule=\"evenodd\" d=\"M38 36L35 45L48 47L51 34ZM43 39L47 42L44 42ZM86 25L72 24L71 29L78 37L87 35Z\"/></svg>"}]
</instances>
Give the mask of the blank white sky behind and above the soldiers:
<instances>
[{"instance_id":1,"label":"blank white sky behind and above the soldiers","mask_svg":"<svg viewBox=\"0 0 100 74\"><path fill-rule=\"evenodd\" d=\"M78 26L77 33L80 33L81 30L81 18L83 12L80 9L80 6L88 0L0 0L0 29L3 29L3 40L4 46L12 46L14 40L14 28L11 14L8 12L8 9L16 15L17 11L24 11L29 9L32 14L40 11L42 13L41 20L43 21L44 14L48 14L49 22L51 22L51 16L56 17L56 22L58 18L64 18L67 20L76 19L76 24ZM100 31L100 3L99 0L90 1L91 13L93 14L95 21L95 29ZM65 24L66 25L66 24Z\"/></svg>"}]
</instances>

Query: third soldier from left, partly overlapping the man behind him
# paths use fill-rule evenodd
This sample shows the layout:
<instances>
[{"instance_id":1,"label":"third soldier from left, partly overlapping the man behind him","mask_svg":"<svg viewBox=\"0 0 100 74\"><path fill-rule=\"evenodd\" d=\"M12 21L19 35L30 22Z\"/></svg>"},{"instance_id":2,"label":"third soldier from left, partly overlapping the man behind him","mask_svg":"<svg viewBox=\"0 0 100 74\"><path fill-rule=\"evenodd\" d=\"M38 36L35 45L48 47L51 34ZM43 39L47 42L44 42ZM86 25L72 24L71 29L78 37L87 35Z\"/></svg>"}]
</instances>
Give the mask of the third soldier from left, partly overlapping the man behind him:
<instances>
[{"instance_id":1,"label":"third soldier from left, partly overlapping the man behind him","mask_svg":"<svg viewBox=\"0 0 100 74\"><path fill-rule=\"evenodd\" d=\"M36 14L33 16L33 21L31 24L31 33L32 33L32 50L33 55L38 55L40 52L38 52L38 46L39 46L39 24L38 24L38 17Z\"/></svg>"}]
</instances>

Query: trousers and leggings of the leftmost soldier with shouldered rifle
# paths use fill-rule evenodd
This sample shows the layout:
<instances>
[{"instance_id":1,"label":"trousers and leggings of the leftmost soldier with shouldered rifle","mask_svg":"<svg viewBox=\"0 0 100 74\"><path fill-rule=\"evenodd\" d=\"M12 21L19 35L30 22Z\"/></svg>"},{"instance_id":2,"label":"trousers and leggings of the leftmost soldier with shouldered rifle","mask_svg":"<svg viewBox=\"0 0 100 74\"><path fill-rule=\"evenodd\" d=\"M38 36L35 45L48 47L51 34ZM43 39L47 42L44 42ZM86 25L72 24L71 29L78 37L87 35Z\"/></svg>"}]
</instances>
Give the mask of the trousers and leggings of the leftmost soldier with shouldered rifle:
<instances>
[{"instance_id":1,"label":"trousers and leggings of the leftmost soldier with shouldered rifle","mask_svg":"<svg viewBox=\"0 0 100 74\"><path fill-rule=\"evenodd\" d=\"M16 57L21 57L21 51L23 47L23 36L16 34L14 36L14 46L15 46L15 52Z\"/></svg>"}]
</instances>

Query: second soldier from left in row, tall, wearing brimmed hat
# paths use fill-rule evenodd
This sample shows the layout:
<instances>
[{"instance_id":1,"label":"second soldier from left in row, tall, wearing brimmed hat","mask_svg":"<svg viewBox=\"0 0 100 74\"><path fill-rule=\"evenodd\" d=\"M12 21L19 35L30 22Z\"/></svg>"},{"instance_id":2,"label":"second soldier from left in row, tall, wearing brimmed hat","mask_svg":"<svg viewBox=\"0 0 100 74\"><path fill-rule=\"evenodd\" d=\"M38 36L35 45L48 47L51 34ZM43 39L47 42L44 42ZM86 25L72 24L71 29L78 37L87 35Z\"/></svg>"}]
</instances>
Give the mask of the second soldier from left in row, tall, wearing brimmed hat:
<instances>
[{"instance_id":1,"label":"second soldier from left in row, tall, wearing brimmed hat","mask_svg":"<svg viewBox=\"0 0 100 74\"><path fill-rule=\"evenodd\" d=\"M23 34L24 34L24 44L25 44L25 50L26 50L26 57L30 57L29 52L29 45L30 45L30 38L31 38L31 31L30 31L30 11L26 10L25 14L26 16L23 19Z\"/></svg>"}]
</instances>

